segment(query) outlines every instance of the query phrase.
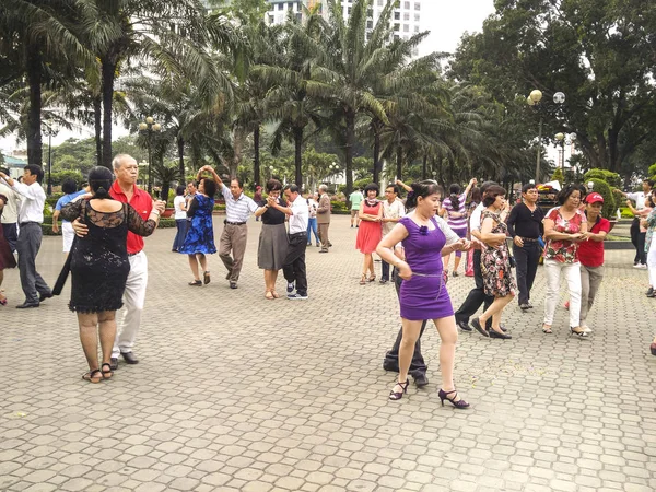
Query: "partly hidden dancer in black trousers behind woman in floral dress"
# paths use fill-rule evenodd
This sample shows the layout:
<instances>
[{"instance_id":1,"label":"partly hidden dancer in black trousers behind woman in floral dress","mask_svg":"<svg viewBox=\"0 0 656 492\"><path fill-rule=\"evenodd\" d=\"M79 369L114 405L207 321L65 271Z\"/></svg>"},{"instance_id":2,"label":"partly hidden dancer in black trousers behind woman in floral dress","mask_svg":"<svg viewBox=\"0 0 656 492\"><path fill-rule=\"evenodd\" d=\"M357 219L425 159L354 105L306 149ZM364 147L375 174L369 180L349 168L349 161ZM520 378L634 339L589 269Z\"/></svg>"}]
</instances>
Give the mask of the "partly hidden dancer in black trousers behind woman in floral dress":
<instances>
[{"instance_id":1,"label":"partly hidden dancer in black trousers behind woman in floral dress","mask_svg":"<svg viewBox=\"0 0 656 492\"><path fill-rule=\"evenodd\" d=\"M472 241L475 241L475 238L478 241L480 237L481 213L485 208L483 206L482 199L485 198L485 191L492 185L496 185L496 183L485 181L481 185L481 202L476 209L473 209L473 212L471 213L471 216L469 219L469 227L471 230ZM501 244L505 239L497 241L499 244ZM473 280L476 281L476 286L469 292L469 295L467 295L467 298L465 300L462 305L455 313L456 325L458 325L460 329L465 331L471 331L471 327L469 326L469 318L473 316L473 314L479 309L479 307L481 307L481 304L484 304L484 309L487 309L488 307L490 307L490 304L492 304L492 302L494 301L494 297L485 295L485 291L483 290L483 274L481 272L480 247L473 249ZM491 319L488 320L487 326L492 326Z\"/></svg>"}]
</instances>

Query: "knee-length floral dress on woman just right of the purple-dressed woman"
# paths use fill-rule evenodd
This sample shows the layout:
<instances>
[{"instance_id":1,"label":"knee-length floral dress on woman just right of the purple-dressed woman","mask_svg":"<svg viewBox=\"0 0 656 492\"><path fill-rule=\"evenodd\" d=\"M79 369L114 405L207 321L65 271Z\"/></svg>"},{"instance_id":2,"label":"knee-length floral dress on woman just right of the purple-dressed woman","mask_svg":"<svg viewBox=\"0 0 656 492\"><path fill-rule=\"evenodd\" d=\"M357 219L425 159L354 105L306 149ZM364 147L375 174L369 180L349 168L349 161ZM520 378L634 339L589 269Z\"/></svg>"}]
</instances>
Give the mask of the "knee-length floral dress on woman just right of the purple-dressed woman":
<instances>
[{"instance_id":1,"label":"knee-length floral dress on woman just right of the purple-dressed woman","mask_svg":"<svg viewBox=\"0 0 656 492\"><path fill-rule=\"evenodd\" d=\"M481 213L481 224L488 218L492 219L496 224L492 227L491 232L493 234L507 234L508 227L499 214L483 210ZM485 291L485 295L495 297L515 295L517 284L515 283L515 279L513 279L511 254L505 241L500 246L483 245L483 249L481 250L481 273L483 274L483 290Z\"/></svg>"}]
</instances>

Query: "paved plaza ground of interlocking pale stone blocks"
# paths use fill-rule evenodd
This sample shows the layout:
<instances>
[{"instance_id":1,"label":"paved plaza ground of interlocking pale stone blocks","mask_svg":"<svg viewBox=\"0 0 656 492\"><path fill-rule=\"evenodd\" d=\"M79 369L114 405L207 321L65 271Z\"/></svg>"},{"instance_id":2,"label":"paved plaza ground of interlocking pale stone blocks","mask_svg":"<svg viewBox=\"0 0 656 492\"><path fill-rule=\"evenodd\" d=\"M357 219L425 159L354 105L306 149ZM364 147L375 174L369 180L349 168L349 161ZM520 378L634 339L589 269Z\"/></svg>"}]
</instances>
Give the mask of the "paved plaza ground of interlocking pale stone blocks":
<instances>
[{"instance_id":1,"label":"paved plaza ground of interlocking pale stone blocks","mask_svg":"<svg viewBox=\"0 0 656 492\"><path fill-rule=\"evenodd\" d=\"M121 361L98 385L81 379L68 285L38 309L15 309L19 272L5 270L0 491L656 490L656 300L632 251L607 251L591 339L569 336L562 308L554 333L541 332L541 269L536 308L506 309L512 340L460 333L456 384L471 408L456 410L437 398L434 329L422 343L431 384L387 399L395 375L382 362L398 303L391 284L359 285L349 218L333 218L330 254L308 248L306 302L263 297L259 224L249 221L238 290L218 255L212 283L188 286L175 231L148 238L141 362ZM44 238L50 284L60 251L60 237ZM456 306L472 284L449 281Z\"/></svg>"}]
</instances>

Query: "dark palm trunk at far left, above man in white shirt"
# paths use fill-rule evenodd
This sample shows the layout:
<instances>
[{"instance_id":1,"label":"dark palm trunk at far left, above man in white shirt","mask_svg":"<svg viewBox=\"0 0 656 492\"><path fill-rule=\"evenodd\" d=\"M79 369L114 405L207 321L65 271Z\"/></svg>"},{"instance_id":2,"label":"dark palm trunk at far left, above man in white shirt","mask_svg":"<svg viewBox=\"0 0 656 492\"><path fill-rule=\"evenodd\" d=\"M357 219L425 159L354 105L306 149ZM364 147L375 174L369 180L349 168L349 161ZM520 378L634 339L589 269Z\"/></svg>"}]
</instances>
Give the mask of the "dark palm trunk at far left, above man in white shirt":
<instances>
[{"instance_id":1,"label":"dark palm trunk at far left, above man in white shirt","mask_svg":"<svg viewBox=\"0 0 656 492\"><path fill-rule=\"evenodd\" d=\"M30 83L30 109L27 112L27 164L42 165L42 56L34 42L27 44L27 80Z\"/></svg>"}]
</instances>

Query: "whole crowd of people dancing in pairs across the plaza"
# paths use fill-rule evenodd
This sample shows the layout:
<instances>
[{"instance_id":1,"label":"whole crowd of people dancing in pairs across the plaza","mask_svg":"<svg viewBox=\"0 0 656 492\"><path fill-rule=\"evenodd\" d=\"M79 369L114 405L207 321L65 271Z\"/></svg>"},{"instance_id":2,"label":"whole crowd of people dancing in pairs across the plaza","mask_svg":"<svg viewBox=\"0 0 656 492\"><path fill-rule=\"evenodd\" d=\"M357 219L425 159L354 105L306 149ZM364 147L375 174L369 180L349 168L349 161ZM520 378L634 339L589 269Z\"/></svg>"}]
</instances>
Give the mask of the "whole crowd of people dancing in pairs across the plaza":
<instances>
[{"instance_id":1,"label":"whole crowd of people dancing in pairs across the plaza","mask_svg":"<svg viewBox=\"0 0 656 492\"><path fill-rule=\"evenodd\" d=\"M14 253L25 294L19 308L38 307L60 294L70 272L69 307L77 313L89 364L83 378L91 383L113 377L119 356L128 364L139 362L132 349L148 284L142 236L155 231L165 207L137 186L134 159L117 155L113 171L94 167L89 174L89 186L80 190L74 183L63 183L52 230L58 231L61 219L63 253L68 256L52 289L36 270L35 261L46 199L40 185L43 171L39 166L26 166L21 181L0 172L0 285L3 269L16 266ZM331 201L327 187L319 186L316 195L302 195L296 185L285 186L272 178L265 184L265 192L258 190L259 195L251 199L239 179L226 183L211 166L203 166L195 181L175 190L177 231L172 250L187 255L192 274L189 285L211 282L208 255L219 253L230 289L238 288L247 222L255 215L262 222L257 265L263 270L265 298L281 297L276 284L282 270L286 297L307 300L306 248L313 238L319 253L329 253L332 246L328 238ZM393 400L407 394L409 375L418 387L427 384L421 336L427 320L433 320L442 340L442 403L446 400L458 409L469 407L458 395L453 377L457 330L512 339L502 323L503 313L514 298L523 312L534 308L530 294L541 258L547 279L542 332L553 333L561 278L567 285L570 332L583 339L594 331L588 315L604 279L604 241L610 231L610 222L601 216L604 197L586 194L581 185L567 185L558 195L558 206L544 211L534 184L522 188L522 198L514 204L499 184L477 185L471 179L461 190L453 184L445 197L433 180L412 185L399 180L385 188L383 200L378 199L375 184L367 185L364 194L355 190L350 196L351 227L358 229L355 248L363 255L360 284L376 280L377 256L382 266L379 283L393 281L399 297L401 329L383 364L385 370L398 372L389 394ZM648 269L648 297L656 296L656 246L652 247L656 242L656 191L652 191L652 186L645 180L642 194L626 195L633 200L630 206L636 216L632 224L635 266L645 265ZM407 192L405 200L401 189ZM216 247L212 213L219 194L225 201L226 215ZM512 239L512 250L507 239ZM465 270L471 270L475 280L473 289L457 309L447 289L453 254L452 277L460 274L460 260L466 254L470 268ZM102 286L95 282L98 276L105 279ZM0 305L5 304L7 297L0 290ZM475 316L481 305L482 313ZM118 330L116 311L124 306ZM651 351L656 355L656 338Z\"/></svg>"}]
</instances>

